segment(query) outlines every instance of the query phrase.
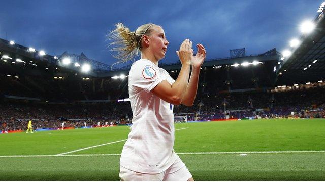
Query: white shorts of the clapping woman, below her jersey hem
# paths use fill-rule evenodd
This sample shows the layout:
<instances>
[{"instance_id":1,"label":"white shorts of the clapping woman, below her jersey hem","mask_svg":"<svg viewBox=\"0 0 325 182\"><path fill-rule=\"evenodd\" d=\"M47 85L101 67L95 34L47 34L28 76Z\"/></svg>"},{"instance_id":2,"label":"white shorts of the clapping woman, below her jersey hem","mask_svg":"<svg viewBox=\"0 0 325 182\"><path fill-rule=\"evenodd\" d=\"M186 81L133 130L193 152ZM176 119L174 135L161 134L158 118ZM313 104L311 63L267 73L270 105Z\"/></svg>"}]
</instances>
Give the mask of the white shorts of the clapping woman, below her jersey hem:
<instances>
[{"instance_id":1,"label":"white shorts of the clapping woman, below her jersey hem","mask_svg":"<svg viewBox=\"0 0 325 182\"><path fill-rule=\"evenodd\" d=\"M146 174L128 170L120 165L121 181L187 181L192 177L184 162L178 159L166 171L158 174Z\"/></svg>"}]
</instances>

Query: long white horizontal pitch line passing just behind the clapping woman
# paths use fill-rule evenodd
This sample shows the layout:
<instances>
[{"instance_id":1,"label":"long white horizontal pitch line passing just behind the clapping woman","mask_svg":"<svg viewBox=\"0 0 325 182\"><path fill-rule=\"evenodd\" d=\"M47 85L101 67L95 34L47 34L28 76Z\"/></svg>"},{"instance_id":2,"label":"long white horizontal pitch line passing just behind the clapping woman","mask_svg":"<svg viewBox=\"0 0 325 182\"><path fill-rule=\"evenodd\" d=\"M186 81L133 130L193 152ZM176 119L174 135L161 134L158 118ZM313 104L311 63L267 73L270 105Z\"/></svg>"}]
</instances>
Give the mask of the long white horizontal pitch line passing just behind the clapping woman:
<instances>
[{"instance_id":1,"label":"long white horizontal pitch line passing just behind the clapping woman","mask_svg":"<svg viewBox=\"0 0 325 182\"><path fill-rule=\"evenodd\" d=\"M325 151L252 151L252 152L184 152L177 155L192 155L192 154L275 154L275 153L325 153ZM77 156L120 156L121 154L70 154L70 155L11 155L0 156L5 157L77 157Z\"/></svg>"}]
</instances>

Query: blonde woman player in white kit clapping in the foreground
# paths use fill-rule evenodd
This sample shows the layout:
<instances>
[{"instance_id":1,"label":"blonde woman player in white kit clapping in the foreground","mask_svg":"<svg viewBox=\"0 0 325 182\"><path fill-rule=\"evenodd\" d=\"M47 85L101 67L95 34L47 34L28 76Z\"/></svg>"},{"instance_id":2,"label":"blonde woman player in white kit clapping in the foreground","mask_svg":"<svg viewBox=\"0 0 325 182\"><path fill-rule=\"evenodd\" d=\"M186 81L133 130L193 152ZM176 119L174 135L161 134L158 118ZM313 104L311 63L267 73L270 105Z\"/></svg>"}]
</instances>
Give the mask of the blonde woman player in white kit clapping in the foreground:
<instances>
[{"instance_id":1,"label":"blonde woman player in white kit clapping in the foreground","mask_svg":"<svg viewBox=\"0 0 325 182\"><path fill-rule=\"evenodd\" d=\"M176 51L182 67L174 80L158 67L169 44L161 26L149 23L131 32L118 23L109 36L115 40L110 45L116 47L111 50L117 51L115 57L120 62L132 60L141 53L141 59L132 64L128 77L133 125L120 158L121 180L193 180L173 149L173 108L175 104L193 105L205 48L197 44L198 52L194 56L192 42L183 41Z\"/></svg>"}]
</instances>

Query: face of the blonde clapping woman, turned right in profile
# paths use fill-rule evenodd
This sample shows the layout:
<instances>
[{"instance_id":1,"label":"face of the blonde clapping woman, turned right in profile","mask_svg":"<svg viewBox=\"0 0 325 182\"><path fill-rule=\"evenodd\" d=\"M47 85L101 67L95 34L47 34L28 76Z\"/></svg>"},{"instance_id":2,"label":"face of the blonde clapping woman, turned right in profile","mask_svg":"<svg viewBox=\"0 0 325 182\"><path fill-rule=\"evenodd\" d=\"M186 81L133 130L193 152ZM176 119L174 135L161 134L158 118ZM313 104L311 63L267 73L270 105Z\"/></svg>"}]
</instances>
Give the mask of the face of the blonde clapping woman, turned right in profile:
<instances>
[{"instance_id":1,"label":"face of the blonde clapping woman, turned right in profile","mask_svg":"<svg viewBox=\"0 0 325 182\"><path fill-rule=\"evenodd\" d=\"M149 35L149 49L157 60L165 57L167 45L169 44L165 36L165 31L160 26L154 26L153 31Z\"/></svg>"}]
</instances>

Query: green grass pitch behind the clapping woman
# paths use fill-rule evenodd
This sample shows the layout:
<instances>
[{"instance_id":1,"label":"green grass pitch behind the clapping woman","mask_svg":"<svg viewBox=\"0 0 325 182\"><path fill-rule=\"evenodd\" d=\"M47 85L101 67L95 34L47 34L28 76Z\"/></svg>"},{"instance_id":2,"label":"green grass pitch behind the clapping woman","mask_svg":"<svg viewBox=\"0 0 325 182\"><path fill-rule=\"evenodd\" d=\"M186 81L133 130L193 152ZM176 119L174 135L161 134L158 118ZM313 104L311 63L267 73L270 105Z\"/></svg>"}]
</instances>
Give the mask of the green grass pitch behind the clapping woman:
<instances>
[{"instance_id":1,"label":"green grass pitch behind the clapping woman","mask_svg":"<svg viewBox=\"0 0 325 182\"><path fill-rule=\"evenodd\" d=\"M175 129L174 149L185 153L179 156L194 180L325 180L325 119L179 123ZM99 154L120 154L125 141L76 150L127 139L128 132L119 126L0 134L0 180L120 180L120 156Z\"/></svg>"}]
</instances>

